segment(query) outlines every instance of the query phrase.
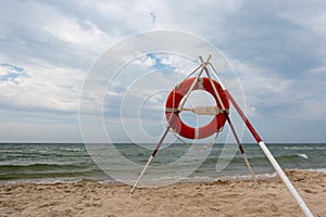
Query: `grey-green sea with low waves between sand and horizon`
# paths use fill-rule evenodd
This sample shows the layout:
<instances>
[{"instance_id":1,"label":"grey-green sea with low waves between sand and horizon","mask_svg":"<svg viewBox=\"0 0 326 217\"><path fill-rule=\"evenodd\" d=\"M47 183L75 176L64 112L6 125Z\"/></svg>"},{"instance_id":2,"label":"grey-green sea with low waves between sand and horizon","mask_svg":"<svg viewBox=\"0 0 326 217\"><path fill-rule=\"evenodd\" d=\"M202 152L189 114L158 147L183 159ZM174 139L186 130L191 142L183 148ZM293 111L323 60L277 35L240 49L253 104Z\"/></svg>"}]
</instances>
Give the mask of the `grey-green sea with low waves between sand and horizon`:
<instances>
[{"instance_id":1,"label":"grey-green sea with low waves between sand and horizon","mask_svg":"<svg viewBox=\"0 0 326 217\"><path fill-rule=\"evenodd\" d=\"M133 183L151 156L155 144L110 144L111 148L117 151L116 153L121 154L116 154L116 156L110 154L108 156L110 161L105 164L101 164L97 156L101 155L105 158L104 154L90 151L91 146L103 149L105 144L0 143L0 184L75 182L82 180ZM267 146L284 169L326 173L326 143L271 143ZM156 170L155 180L176 180L174 176L179 175L183 176L181 178L178 177L178 180L181 181L213 181L222 177L250 177L243 156L238 150L235 150L237 146L218 143L211 146L197 145L192 150L193 153L197 150L198 152L204 150L206 153L203 159L196 162L197 166L193 166L192 163L198 161L198 157L192 159L190 155L177 166L164 167L164 165L173 165L173 162L179 161L187 154L189 149L193 148L179 143L163 146L149 166L153 166ZM258 144L243 144L243 149L254 174L262 177L276 175ZM231 150L234 154L224 155L225 150ZM139 167L128 169L128 165L122 166L124 161L121 161L121 156L125 156L128 158L127 162L139 165ZM223 159L227 164L221 167ZM220 167L216 167L218 163ZM105 165L117 169L114 170L114 174L111 174L110 169L105 169ZM174 170L173 173L166 171L171 168Z\"/></svg>"}]
</instances>

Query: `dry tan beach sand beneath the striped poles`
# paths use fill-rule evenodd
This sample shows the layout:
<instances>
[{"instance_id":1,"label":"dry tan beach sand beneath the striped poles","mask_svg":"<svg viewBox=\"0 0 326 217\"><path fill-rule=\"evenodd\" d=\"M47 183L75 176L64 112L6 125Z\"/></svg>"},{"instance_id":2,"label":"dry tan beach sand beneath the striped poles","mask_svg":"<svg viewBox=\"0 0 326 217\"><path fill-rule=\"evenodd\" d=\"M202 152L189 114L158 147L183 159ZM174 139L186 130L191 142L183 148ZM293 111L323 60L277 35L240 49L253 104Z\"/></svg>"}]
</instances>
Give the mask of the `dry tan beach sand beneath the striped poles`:
<instances>
[{"instance_id":1,"label":"dry tan beach sand beneath the striped poles","mask_svg":"<svg viewBox=\"0 0 326 217\"><path fill-rule=\"evenodd\" d=\"M288 170L314 216L326 216L326 174ZM23 183L0 187L0 216L304 216L278 178L176 183L137 189L124 184Z\"/></svg>"}]
</instances>

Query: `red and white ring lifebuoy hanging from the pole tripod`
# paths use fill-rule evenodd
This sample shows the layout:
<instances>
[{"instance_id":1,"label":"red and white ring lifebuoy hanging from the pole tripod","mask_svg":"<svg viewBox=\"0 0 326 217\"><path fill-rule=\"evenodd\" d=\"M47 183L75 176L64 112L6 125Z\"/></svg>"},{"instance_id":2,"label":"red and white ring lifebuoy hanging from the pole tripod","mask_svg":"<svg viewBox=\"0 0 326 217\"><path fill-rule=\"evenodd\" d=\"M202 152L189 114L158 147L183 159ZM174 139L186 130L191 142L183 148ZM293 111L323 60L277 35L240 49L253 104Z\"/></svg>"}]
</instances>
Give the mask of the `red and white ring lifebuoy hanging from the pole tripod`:
<instances>
[{"instance_id":1,"label":"red and white ring lifebuoy hanging from the pole tripod","mask_svg":"<svg viewBox=\"0 0 326 217\"><path fill-rule=\"evenodd\" d=\"M165 103L165 117L168 124L171 125L172 129L184 138L188 139L203 139L206 137L210 137L214 135L216 131L218 131L225 124L226 117L223 113L220 113L214 116L214 118L205 126L202 126L200 128L195 128L191 126L186 125L179 117L180 111L178 111L178 105L183 98L187 94L189 91L193 80L197 79L188 78L184 80L181 84L175 87L173 89L166 100ZM224 92L224 90L221 88L220 84L215 80L213 80L213 84L220 94L220 98L225 106L225 108L228 111L229 103L227 100L227 97ZM193 90L205 90L209 93L213 95L213 98L216 101L217 107L222 107L218 103L217 97L214 93L214 89L210 82L210 79L206 77L201 77L199 80L197 80Z\"/></svg>"}]
</instances>

